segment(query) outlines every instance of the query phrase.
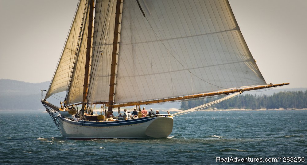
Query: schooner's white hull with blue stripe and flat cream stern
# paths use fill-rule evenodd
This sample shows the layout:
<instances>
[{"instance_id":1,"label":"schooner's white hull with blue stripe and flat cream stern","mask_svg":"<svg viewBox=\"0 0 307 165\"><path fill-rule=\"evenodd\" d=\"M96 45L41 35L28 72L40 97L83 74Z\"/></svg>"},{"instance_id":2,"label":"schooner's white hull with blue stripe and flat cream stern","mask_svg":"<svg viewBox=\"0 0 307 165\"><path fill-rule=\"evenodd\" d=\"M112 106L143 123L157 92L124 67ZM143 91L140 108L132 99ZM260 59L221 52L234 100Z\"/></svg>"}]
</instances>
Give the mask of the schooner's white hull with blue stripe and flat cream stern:
<instances>
[{"instance_id":1,"label":"schooner's white hull with blue stripe and flat cream stern","mask_svg":"<svg viewBox=\"0 0 307 165\"><path fill-rule=\"evenodd\" d=\"M114 122L78 122L60 117L60 131L70 139L165 138L173 130L173 116L153 115Z\"/></svg>"}]
</instances>

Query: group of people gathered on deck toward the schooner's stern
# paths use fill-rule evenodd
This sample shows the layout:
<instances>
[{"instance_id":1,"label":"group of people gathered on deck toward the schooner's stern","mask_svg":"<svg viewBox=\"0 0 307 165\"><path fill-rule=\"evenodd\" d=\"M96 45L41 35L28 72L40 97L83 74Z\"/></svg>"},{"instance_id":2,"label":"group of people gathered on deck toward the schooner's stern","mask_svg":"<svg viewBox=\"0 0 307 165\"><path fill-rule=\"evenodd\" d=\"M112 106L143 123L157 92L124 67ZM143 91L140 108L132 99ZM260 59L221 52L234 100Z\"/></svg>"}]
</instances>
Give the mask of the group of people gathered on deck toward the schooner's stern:
<instances>
[{"instance_id":1,"label":"group of people gathered on deck toward the schooner's stern","mask_svg":"<svg viewBox=\"0 0 307 165\"><path fill-rule=\"evenodd\" d=\"M143 107L143 110L141 111L141 113L142 113L142 117L160 114L159 110L157 110L156 113L154 113L152 108L150 108L150 111L147 112L145 107ZM170 114L169 111L167 111L167 114ZM118 118L122 118L123 120L129 120L129 119L133 119L133 118L137 118L137 117L138 117L138 111L137 111L136 108L134 108L134 111L132 113L127 112L127 109L125 109L124 113L122 113L122 114L119 113L119 115L118 115Z\"/></svg>"}]
</instances>

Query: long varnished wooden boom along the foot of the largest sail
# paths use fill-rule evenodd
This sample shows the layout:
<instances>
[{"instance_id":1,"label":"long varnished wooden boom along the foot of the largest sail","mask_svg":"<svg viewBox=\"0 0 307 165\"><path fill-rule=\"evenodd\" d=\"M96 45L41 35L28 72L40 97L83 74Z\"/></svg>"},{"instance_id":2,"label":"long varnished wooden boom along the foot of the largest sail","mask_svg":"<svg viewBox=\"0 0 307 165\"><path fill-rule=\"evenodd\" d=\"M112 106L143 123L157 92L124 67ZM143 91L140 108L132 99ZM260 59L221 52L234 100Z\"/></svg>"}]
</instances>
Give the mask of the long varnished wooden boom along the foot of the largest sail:
<instances>
[{"instance_id":1,"label":"long varnished wooden boom along the foot of the largest sail","mask_svg":"<svg viewBox=\"0 0 307 165\"><path fill-rule=\"evenodd\" d=\"M227 91L217 91L217 92L201 93L201 94L188 95L188 96L182 96L182 97L174 97L174 98L168 98L168 99L158 99L158 100L151 100L151 101L138 101L138 102L124 103L124 104L117 104L117 105L106 105L106 106L108 106L108 107L127 107L127 106L134 106L134 105L155 104L155 103L163 103L163 102L168 102L168 101L193 99L193 98L199 98L199 97L225 95L225 94L229 94L229 93L251 91L251 90L257 90L257 89L263 89L263 88L272 88L272 87L283 86L283 85L289 85L289 83L266 84L266 85L246 87L246 88L241 88L241 89L230 89L230 90L227 90Z\"/></svg>"}]
</instances>

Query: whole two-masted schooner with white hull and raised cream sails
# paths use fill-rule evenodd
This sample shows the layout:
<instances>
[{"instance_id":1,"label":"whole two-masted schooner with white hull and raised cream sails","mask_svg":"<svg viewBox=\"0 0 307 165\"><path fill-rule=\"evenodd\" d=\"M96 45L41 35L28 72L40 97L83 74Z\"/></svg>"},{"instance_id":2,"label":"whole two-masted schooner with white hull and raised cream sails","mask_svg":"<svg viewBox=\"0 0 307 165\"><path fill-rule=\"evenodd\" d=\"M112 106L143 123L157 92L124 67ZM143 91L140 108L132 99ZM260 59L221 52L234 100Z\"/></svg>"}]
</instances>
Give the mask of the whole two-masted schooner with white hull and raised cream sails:
<instances>
[{"instance_id":1,"label":"whole two-masted schooner with white hull and raised cream sails","mask_svg":"<svg viewBox=\"0 0 307 165\"><path fill-rule=\"evenodd\" d=\"M227 0L80 0L41 102L67 138L164 138L172 115L108 117L286 84L265 82ZM63 91L64 106L46 100ZM107 111L90 114L97 104Z\"/></svg>"}]
</instances>

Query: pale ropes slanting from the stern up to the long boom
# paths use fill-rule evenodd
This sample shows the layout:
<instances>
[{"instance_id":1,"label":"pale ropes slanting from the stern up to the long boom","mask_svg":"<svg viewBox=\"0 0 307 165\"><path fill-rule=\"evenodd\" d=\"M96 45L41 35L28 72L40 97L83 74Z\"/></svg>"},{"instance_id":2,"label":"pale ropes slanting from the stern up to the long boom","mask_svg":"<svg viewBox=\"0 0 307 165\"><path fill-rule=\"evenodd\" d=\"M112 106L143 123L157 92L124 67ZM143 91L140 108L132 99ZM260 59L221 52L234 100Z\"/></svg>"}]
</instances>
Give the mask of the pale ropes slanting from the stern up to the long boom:
<instances>
[{"instance_id":1,"label":"pale ropes slanting from the stern up to the long boom","mask_svg":"<svg viewBox=\"0 0 307 165\"><path fill-rule=\"evenodd\" d=\"M230 98L232 98L232 97L234 97L234 96L237 96L237 95L239 95L239 94L241 94L241 93L242 93L242 92L237 92L237 93L228 95L228 96L226 96L226 97L223 97L223 98L221 98L221 99L217 99L217 100L215 100L215 101L212 101L212 102L210 102L210 103L205 103L205 104L200 105L200 106L198 106L198 107L194 107L194 108L191 108L191 109L188 109L188 110L185 110L185 111L181 111L181 112L174 113L174 114L173 114L173 117L180 116L180 115L183 115L183 114L188 114L188 113L191 113L191 112L195 112L195 111L201 110L201 109L203 109L203 108L210 107L210 106L212 106L212 105L214 105L214 104L217 104L217 103L220 103L220 102L222 102L222 101L224 101L224 100L230 99Z\"/></svg>"}]
</instances>

